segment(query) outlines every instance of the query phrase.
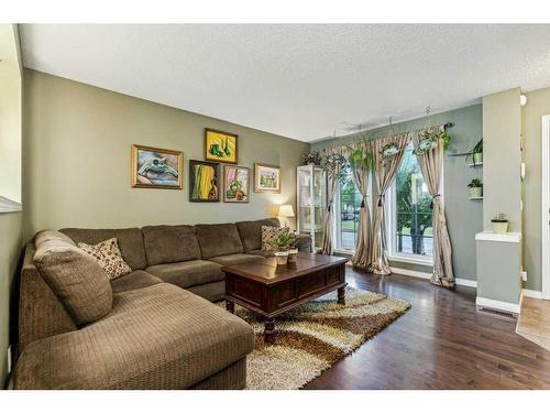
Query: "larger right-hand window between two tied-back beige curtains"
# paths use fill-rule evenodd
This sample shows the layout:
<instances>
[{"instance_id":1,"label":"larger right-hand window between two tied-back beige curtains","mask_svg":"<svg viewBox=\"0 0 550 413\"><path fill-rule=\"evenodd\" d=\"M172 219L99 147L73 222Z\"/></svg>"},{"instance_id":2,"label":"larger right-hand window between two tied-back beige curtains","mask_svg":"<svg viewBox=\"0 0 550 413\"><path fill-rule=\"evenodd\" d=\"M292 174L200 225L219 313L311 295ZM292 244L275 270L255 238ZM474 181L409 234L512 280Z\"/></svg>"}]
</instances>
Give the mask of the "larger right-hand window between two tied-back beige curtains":
<instances>
[{"instance_id":1,"label":"larger right-hand window between two tied-back beige curtains","mask_svg":"<svg viewBox=\"0 0 550 413\"><path fill-rule=\"evenodd\" d=\"M432 262L431 196L413 153L413 144L406 149L388 195L389 257Z\"/></svg>"}]
</instances>

